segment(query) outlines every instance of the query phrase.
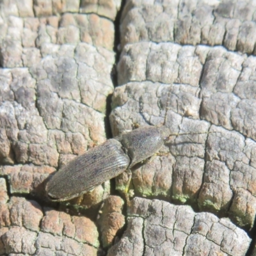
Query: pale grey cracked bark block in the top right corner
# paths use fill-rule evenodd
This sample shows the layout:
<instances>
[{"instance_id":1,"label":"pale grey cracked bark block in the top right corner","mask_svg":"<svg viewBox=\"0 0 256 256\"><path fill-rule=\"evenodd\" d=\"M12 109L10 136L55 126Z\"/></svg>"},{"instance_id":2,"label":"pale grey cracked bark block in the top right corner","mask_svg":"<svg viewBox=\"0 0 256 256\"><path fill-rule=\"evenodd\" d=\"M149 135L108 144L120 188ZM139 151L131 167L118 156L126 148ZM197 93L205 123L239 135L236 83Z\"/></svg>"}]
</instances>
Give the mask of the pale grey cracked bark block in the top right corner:
<instances>
[{"instance_id":1,"label":"pale grey cracked bark block in the top right corner","mask_svg":"<svg viewBox=\"0 0 256 256\"><path fill-rule=\"evenodd\" d=\"M122 46L142 41L223 45L255 54L253 1L127 1Z\"/></svg>"}]
</instances>

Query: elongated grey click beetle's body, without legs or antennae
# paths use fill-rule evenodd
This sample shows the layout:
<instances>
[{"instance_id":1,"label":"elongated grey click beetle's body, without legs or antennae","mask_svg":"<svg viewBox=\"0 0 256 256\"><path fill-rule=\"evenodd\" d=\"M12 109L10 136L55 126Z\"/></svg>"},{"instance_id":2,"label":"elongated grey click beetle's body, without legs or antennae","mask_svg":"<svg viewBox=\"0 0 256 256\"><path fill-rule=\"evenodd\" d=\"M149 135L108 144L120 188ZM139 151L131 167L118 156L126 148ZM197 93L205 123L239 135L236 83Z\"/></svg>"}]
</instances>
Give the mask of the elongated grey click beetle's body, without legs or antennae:
<instances>
[{"instance_id":1,"label":"elongated grey click beetle's body, without legs or antennae","mask_svg":"<svg viewBox=\"0 0 256 256\"><path fill-rule=\"evenodd\" d=\"M65 201L83 195L156 154L169 135L165 125L148 126L108 140L61 168L47 183L47 196Z\"/></svg>"}]
</instances>

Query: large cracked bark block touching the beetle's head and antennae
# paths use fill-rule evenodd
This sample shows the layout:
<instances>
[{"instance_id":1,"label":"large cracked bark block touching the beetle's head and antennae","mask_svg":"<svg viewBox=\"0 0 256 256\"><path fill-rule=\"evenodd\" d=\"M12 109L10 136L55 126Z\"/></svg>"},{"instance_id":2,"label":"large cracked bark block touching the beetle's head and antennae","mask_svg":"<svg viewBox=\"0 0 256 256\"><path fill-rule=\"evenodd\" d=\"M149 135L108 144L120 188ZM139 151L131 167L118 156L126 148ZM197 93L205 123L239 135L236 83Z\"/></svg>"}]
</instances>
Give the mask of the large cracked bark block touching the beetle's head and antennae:
<instances>
[{"instance_id":1,"label":"large cracked bark block touching the beetle's head and antennae","mask_svg":"<svg viewBox=\"0 0 256 256\"><path fill-rule=\"evenodd\" d=\"M124 85L115 90L111 113L115 134L134 123L163 124L168 101L166 124L173 133L211 132L167 143L172 156L134 172L138 195L192 202L252 228L256 101L249 93L254 84L245 77L255 72L255 60L223 47L147 42L124 47L118 63L118 81Z\"/></svg>"}]
</instances>

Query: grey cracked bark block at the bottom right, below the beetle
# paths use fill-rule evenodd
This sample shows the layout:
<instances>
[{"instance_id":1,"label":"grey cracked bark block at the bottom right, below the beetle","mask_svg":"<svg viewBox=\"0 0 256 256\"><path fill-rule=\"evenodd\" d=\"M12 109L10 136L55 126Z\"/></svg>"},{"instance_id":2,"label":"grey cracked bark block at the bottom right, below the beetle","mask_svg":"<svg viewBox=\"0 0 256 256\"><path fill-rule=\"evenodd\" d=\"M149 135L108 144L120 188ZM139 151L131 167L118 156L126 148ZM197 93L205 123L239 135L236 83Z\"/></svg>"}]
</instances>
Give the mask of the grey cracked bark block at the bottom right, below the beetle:
<instances>
[{"instance_id":1,"label":"grey cracked bark block at the bottom right, below the beetle","mask_svg":"<svg viewBox=\"0 0 256 256\"><path fill-rule=\"evenodd\" d=\"M187 205L134 198L127 230L111 255L244 255L246 233L211 213L195 213Z\"/></svg>"}]
</instances>

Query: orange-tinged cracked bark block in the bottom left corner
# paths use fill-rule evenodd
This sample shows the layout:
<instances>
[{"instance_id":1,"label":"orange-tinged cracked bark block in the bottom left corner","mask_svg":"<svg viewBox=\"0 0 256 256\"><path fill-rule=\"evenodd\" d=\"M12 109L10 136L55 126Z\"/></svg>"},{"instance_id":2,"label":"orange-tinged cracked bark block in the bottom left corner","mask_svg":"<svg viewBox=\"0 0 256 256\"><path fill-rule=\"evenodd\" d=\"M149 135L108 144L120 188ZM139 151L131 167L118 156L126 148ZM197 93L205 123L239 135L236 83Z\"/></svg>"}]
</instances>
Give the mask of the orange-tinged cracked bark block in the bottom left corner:
<instances>
[{"instance_id":1,"label":"orange-tinged cracked bark block in the bottom left corner","mask_svg":"<svg viewBox=\"0 0 256 256\"><path fill-rule=\"evenodd\" d=\"M12 196L7 202L7 198L4 179L1 178L2 255L97 254L99 234L90 219L48 208L44 208L43 212L42 207L33 200Z\"/></svg>"}]
</instances>

